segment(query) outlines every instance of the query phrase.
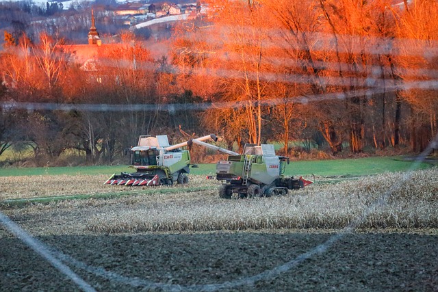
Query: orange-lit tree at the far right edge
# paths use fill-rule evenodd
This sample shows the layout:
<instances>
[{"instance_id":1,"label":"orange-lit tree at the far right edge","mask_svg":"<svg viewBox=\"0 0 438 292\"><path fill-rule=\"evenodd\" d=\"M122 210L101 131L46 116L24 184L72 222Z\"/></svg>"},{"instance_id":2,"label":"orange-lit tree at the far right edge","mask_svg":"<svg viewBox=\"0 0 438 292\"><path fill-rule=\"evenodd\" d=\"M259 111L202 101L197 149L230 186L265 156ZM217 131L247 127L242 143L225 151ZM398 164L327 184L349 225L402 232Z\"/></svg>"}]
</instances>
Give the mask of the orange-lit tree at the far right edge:
<instances>
[{"instance_id":1,"label":"orange-lit tree at the far right edge","mask_svg":"<svg viewBox=\"0 0 438 292\"><path fill-rule=\"evenodd\" d=\"M406 5L405 10L396 11L397 36L400 42L400 57L397 63L402 66L400 79L408 85L400 92L400 99L407 101L411 109L411 143L414 151L422 151L437 133L438 98L437 90L428 86L435 80L433 72L438 69L438 56L435 42L438 40L438 4L435 1L415 1ZM411 74L412 70L424 72Z\"/></svg>"}]
</instances>

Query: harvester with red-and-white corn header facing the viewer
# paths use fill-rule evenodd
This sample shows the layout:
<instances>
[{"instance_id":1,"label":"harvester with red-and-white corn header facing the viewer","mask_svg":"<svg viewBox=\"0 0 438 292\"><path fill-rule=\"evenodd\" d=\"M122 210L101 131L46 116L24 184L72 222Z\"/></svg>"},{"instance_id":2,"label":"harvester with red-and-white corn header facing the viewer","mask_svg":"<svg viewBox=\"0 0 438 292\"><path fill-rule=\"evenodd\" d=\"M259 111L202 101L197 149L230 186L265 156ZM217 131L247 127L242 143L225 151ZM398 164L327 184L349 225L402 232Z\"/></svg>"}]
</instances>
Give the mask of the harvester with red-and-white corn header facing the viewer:
<instances>
[{"instance_id":1,"label":"harvester with red-and-white corn header facing the viewer","mask_svg":"<svg viewBox=\"0 0 438 292\"><path fill-rule=\"evenodd\" d=\"M214 140L215 135L207 135L196 141ZM137 172L113 174L104 185L172 185L188 183L190 172L190 152L181 147L190 145L192 140L169 145L167 135L141 135L138 146L129 150L131 165Z\"/></svg>"}]
</instances>

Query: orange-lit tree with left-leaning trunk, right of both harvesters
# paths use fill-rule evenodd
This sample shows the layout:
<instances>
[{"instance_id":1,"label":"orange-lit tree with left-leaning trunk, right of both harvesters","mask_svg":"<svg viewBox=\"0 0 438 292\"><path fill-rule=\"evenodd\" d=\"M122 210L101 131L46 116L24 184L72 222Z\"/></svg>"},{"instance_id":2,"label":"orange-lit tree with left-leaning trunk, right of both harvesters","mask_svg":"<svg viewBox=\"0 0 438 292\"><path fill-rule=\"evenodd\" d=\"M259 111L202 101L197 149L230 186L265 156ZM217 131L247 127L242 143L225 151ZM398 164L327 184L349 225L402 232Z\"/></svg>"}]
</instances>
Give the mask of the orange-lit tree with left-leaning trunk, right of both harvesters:
<instances>
[{"instance_id":1,"label":"orange-lit tree with left-leaning trunk, right of both harvesters","mask_svg":"<svg viewBox=\"0 0 438 292\"><path fill-rule=\"evenodd\" d=\"M334 76L337 62L333 62L333 53L327 29L322 25L322 11L319 1L287 1L263 0L268 13L275 20L274 27L278 31L270 31L270 36L277 54L283 55L284 69L289 82L298 85L294 96L311 96L314 107L313 116L318 118L319 130L331 147L333 153L342 150L342 137L339 135L339 124L333 120L333 107L338 107L339 101L326 103L326 95L339 91L336 85L331 85L329 77ZM305 6L307 9L302 9ZM322 102L318 102L322 99ZM322 106L321 106L322 105Z\"/></svg>"}]
</instances>

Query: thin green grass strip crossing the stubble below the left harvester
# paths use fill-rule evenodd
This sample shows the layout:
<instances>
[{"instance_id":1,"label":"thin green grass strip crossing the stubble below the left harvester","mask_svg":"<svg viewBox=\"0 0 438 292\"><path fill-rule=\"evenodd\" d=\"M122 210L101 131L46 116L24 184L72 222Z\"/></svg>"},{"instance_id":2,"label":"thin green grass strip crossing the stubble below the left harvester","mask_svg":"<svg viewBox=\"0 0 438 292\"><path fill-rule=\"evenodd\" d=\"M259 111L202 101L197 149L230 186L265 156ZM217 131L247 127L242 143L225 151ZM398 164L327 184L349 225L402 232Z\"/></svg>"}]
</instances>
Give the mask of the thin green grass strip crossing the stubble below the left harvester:
<instances>
[{"instance_id":1,"label":"thin green grass strip crossing the stubble below the left harvester","mask_svg":"<svg viewBox=\"0 0 438 292\"><path fill-rule=\"evenodd\" d=\"M105 193L105 194L83 194L83 195L71 195L71 196L49 196L49 197L39 197L39 198L23 198L23 199L8 199L3 200L0 203L8 206L22 207L27 204L49 204L51 202L58 202L62 200L87 200L91 198L96 199L110 199L118 198L121 196L135 196L144 194L175 194L181 191L186 191L192 193L195 191L205 191L211 189L209 187L190 187L187 189L172 188L172 189L146 189L143 191L123 191L120 193Z\"/></svg>"}]
</instances>

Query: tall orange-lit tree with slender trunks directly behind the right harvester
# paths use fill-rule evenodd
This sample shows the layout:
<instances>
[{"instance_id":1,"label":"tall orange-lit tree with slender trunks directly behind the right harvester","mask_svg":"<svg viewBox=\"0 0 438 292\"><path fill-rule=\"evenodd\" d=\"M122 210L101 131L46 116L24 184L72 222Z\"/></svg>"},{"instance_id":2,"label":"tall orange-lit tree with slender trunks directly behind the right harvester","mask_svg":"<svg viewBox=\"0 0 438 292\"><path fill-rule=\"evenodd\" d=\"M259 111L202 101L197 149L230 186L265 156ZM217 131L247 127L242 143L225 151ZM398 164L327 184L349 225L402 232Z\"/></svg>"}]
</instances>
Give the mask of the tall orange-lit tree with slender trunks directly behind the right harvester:
<instances>
[{"instance_id":1,"label":"tall orange-lit tree with slender trunks directly behind the right harvester","mask_svg":"<svg viewBox=\"0 0 438 292\"><path fill-rule=\"evenodd\" d=\"M229 57L222 62L227 78L222 79L227 99L239 103L245 115L248 142L260 144L262 100L268 79L263 78L269 18L264 6L255 1L207 1L211 10L218 45L217 55ZM236 13L239 12L239 13ZM225 53L227 52L227 53ZM237 113L236 112L236 113Z\"/></svg>"}]
</instances>

